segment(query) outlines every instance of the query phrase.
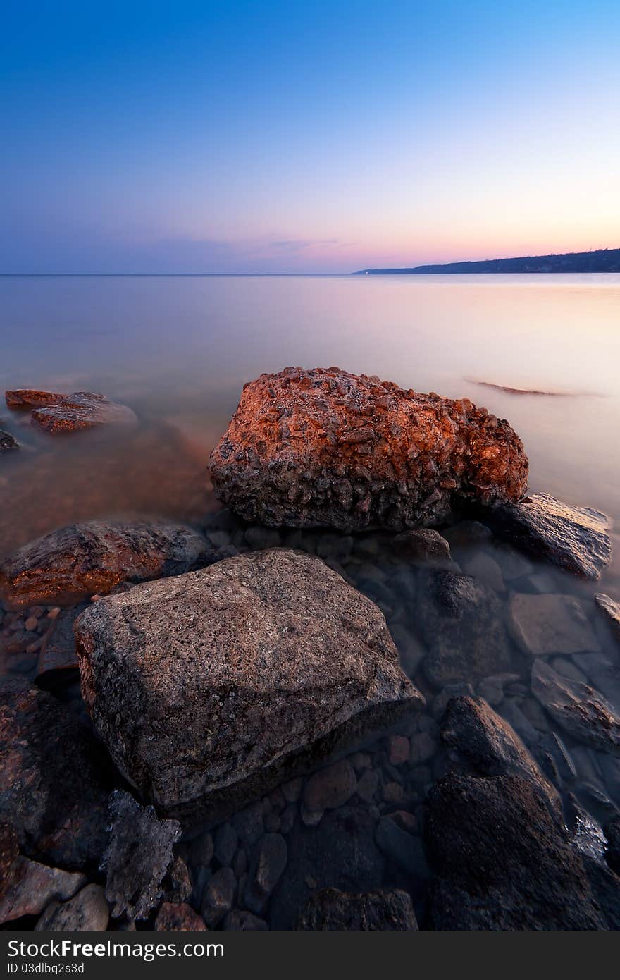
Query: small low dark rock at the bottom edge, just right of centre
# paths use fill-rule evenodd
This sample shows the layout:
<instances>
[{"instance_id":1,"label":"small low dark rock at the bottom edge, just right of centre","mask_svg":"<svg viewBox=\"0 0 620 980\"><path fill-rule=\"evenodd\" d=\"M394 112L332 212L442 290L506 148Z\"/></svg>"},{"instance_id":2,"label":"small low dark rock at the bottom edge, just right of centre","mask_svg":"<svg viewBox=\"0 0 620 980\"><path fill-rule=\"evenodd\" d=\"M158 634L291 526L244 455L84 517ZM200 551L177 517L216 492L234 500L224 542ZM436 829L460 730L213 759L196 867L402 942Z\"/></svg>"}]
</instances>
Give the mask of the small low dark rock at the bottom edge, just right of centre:
<instances>
[{"instance_id":1,"label":"small low dark rock at the bottom edge, just right of centre","mask_svg":"<svg viewBox=\"0 0 620 980\"><path fill-rule=\"evenodd\" d=\"M397 888L352 895L325 888L312 895L297 926L311 930L417 931L411 897Z\"/></svg>"}]
</instances>

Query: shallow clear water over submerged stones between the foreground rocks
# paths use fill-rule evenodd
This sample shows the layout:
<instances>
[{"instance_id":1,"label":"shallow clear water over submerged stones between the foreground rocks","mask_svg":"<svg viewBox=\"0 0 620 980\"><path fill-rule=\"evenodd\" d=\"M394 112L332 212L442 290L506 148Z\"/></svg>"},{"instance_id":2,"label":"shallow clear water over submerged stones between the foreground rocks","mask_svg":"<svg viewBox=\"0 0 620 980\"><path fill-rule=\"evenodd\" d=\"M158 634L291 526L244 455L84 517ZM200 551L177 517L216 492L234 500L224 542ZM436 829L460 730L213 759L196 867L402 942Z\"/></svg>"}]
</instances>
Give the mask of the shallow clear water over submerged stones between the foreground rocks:
<instances>
[{"instance_id":1,"label":"shallow clear water over submerged stones between the foreground rocks","mask_svg":"<svg viewBox=\"0 0 620 980\"><path fill-rule=\"evenodd\" d=\"M276 786L226 821L186 830L175 853L187 861L191 894L167 895L168 904L186 903L210 928L288 929L308 917L309 903L315 906L322 890L336 889L332 902L340 908L351 901L348 896L400 889L410 895L421 928L453 921L450 906L442 917L447 886L442 891L433 885L436 868L429 866L426 822L427 795L453 768L441 728L457 694L485 698L508 722L557 791L566 821L575 806L586 814L584 826L588 820L598 828L617 820L620 756L560 724L532 689L533 666L544 663L571 690L592 687L620 713L620 644L613 623L596 604L599 583L526 557L472 520L445 529L450 557L441 549L447 567L440 568L433 564L436 555L412 555L387 532L276 530L244 524L226 510L208 515L199 529L215 548L244 553L286 547L320 557L379 606L403 669L427 704L354 751ZM428 583L438 575L443 576L444 617L434 610L429 618ZM603 572L605 591L612 579ZM468 615L472 597L482 615ZM545 615L528 618L525 643L515 628L515 609L522 613L533 602ZM47 643L53 639L57 618L60 626L63 617L43 607L5 613L0 623L4 669L34 677L37 664L44 664L41 640L48 634ZM454 620L457 628L450 626ZM438 664L445 662L446 651L434 637L446 624L453 660L445 677ZM485 640L484 669L472 672L466 651L473 643L484 652ZM71 667L46 669L45 685L81 713ZM472 799L478 799L476 793ZM610 830L610 843L612 838ZM558 847L565 855L564 844ZM607 878L604 882L608 887ZM381 914L388 908L389 903ZM152 925L156 912L138 920L137 927Z\"/></svg>"}]
</instances>

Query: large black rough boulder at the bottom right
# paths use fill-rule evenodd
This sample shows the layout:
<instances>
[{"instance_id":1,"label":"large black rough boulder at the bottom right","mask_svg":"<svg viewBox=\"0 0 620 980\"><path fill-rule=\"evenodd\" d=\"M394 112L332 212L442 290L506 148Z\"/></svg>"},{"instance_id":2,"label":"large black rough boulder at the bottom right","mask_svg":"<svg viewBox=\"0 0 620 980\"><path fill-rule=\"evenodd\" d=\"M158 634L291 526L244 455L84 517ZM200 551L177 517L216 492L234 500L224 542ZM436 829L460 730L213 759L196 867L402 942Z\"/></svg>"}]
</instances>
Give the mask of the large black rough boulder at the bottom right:
<instances>
[{"instance_id":1,"label":"large black rough boulder at the bottom right","mask_svg":"<svg viewBox=\"0 0 620 980\"><path fill-rule=\"evenodd\" d=\"M429 794L435 929L607 929L584 860L534 783L451 773Z\"/></svg>"}]
</instances>

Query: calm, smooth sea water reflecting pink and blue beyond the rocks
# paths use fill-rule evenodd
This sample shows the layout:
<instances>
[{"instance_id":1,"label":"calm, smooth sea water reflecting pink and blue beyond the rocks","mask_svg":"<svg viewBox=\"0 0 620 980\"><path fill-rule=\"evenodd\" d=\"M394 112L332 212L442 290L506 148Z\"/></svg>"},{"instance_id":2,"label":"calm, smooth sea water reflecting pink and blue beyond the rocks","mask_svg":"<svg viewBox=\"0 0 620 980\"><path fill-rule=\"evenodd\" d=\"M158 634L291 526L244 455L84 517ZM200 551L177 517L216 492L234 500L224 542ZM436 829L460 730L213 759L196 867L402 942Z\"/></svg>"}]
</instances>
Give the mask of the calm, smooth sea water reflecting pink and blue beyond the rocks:
<instances>
[{"instance_id":1,"label":"calm, smooth sea water reflecting pink and blue beyond the rocks","mask_svg":"<svg viewBox=\"0 0 620 980\"><path fill-rule=\"evenodd\" d=\"M0 333L3 387L101 391L143 420L136 442L50 452L0 411L37 450L3 459L0 552L75 516L200 510L244 381L287 365L466 395L522 436L533 490L620 517L619 275L8 276Z\"/></svg>"}]
</instances>

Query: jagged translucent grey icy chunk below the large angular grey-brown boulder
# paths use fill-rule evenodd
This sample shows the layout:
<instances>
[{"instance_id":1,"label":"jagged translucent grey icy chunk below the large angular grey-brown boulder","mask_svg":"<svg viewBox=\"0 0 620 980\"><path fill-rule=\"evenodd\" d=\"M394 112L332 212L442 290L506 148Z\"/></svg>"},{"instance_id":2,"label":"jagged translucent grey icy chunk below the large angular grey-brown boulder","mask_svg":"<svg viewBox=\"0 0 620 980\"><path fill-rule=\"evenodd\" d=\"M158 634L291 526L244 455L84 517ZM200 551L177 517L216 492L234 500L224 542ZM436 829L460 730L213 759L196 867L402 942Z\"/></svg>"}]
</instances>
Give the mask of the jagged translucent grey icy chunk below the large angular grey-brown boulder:
<instances>
[{"instance_id":1,"label":"jagged translucent grey icy chunk below the large angular grey-brown boulder","mask_svg":"<svg viewBox=\"0 0 620 980\"><path fill-rule=\"evenodd\" d=\"M106 898L112 914L129 921L146 918L164 894L164 881L181 829L176 820L160 820L153 807L140 807L122 790L110 800L112 833L102 861Z\"/></svg>"}]
</instances>

